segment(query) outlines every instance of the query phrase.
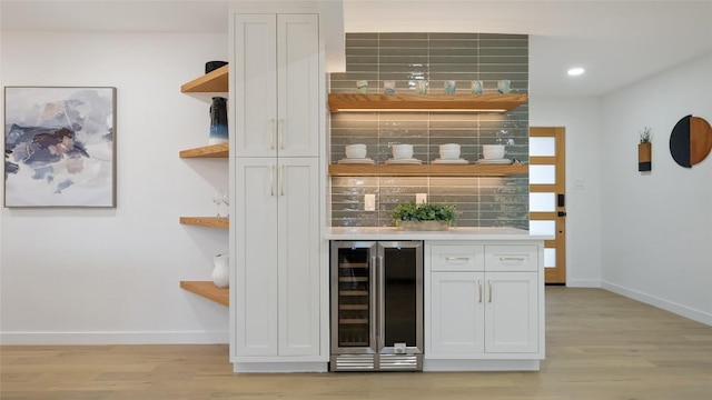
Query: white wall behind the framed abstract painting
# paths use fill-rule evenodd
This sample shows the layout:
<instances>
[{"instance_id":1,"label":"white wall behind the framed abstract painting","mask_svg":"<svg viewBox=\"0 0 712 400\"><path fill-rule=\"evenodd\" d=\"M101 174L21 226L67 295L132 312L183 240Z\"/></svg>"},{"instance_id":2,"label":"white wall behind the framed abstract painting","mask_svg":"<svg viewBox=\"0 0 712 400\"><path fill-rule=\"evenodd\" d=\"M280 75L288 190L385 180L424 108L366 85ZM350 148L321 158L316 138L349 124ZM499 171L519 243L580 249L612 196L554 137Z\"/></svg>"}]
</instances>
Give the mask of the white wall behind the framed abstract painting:
<instances>
[{"instance_id":1,"label":"white wall behind the framed abstract painting","mask_svg":"<svg viewBox=\"0 0 712 400\"><path fill-rule=\"evenodd\" d=\"M209 280L228 232L178 223L215 213L227 160L207 144L209 96L180 93L219 33L3 32L0 84L117 88L116 209L0 211L2 343L227 342L227 308L184 291ZM3 123L4 126L4 123Z\"/></svg>"}]
</instances>

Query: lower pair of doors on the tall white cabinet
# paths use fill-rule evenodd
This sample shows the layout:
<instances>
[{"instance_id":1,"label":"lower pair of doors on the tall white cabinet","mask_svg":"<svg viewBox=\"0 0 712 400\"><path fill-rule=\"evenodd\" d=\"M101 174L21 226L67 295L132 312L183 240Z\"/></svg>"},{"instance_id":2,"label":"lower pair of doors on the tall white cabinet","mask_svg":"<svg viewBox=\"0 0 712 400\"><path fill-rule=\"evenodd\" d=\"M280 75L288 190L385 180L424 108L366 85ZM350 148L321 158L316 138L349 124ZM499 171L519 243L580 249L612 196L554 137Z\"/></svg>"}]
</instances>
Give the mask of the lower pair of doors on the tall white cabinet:
<instances>
[{"instance_id":1,"label":"lower pair of doors on the tall white cabinet","mask_svg":"<svg viewBox=\"0 0 712 400\"><path fill-rule=\"evenodd\" d=\"M233 361L319 356L317 159L237 158L235 186Z\"/></svg>"}]
</instances>

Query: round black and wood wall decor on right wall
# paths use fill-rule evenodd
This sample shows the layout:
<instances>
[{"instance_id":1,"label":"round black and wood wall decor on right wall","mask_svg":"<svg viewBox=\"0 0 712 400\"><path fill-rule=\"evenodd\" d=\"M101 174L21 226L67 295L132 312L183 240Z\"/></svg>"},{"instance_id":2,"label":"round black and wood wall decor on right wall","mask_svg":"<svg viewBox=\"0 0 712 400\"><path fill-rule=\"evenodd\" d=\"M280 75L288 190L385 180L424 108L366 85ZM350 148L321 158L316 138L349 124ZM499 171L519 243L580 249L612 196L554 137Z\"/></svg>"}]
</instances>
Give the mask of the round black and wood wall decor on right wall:
<instances>
[{"instance_id":1,"label":"round black and wood wall decor on right wall","mask_svg":"<svg viewBox=\"0 0 712 400\"><path fill-rule=\"evenodd\" d=\"M704 118L683 117L670 133L670 154L682 167L704 160L712 150L712 127Z\"/></svg>"}]
</instances>

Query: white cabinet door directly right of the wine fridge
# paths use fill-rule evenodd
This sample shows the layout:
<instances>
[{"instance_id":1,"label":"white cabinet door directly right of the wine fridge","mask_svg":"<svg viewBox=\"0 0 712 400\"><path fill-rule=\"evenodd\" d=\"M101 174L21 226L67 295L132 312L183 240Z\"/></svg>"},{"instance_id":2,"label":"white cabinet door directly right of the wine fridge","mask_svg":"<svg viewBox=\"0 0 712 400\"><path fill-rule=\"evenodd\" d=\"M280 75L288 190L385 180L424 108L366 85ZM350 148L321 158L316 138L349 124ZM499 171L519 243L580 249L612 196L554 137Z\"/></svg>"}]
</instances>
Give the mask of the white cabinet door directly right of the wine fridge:
<instances>
[{"instance_id":1,"label":"white cabinet door directly right of the wine fridge","mask_svg":"<svg viewBox=\"0 0 712 400\"><path fill-rule=\"evenodd\" d=\"M484 273L431 273L432 353L482 353L484 350Z\"/></svg>"}]
</instances>

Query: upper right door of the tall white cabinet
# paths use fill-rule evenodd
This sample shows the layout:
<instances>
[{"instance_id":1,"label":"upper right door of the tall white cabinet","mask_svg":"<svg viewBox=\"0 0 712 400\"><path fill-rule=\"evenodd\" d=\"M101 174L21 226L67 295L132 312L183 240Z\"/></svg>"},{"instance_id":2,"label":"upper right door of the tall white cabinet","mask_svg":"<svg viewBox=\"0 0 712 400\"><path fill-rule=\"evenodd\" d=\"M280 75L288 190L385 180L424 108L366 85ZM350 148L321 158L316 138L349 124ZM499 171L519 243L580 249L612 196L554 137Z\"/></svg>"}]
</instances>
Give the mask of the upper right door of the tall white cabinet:
<instances>
[{"instance_id":1,"label":"upper right door of the tall white cabinet","mask_svg":"<svg viewBox=\"0 0 712 400\"><path fill-rule=\"evenodd\" d=\"M280 157L319 154L319 20L277 16L277 147Z\"/></svg>"}]
</instances>

